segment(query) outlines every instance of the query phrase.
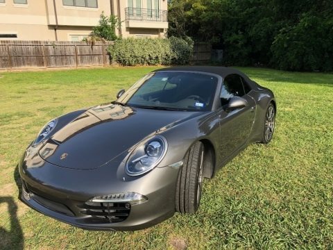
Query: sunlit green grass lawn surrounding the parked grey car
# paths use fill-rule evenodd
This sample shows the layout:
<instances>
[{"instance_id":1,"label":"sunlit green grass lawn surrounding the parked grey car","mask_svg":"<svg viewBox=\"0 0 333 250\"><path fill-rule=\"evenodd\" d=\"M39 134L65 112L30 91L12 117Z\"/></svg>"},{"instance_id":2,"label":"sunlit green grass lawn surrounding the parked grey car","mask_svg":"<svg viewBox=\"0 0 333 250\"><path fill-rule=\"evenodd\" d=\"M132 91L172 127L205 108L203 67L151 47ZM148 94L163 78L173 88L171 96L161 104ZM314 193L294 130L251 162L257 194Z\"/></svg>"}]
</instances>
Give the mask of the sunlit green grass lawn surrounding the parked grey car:
<instances>
[{"instance_id":1,"label":"sunlit green grass lawn surrounding the parked grey car","mask_svg":"<svg viewBox=\"0 0 333 250\"><path fill-rule=\"evenodd\" d=\"M0 249L333 249L332 74L242 69L275 92L275 135L205 181L196 215L135 232L83 231L17 199L15 166L41 126L114 100L153 69L0 73Z\"/></svg>"}]
</instances>

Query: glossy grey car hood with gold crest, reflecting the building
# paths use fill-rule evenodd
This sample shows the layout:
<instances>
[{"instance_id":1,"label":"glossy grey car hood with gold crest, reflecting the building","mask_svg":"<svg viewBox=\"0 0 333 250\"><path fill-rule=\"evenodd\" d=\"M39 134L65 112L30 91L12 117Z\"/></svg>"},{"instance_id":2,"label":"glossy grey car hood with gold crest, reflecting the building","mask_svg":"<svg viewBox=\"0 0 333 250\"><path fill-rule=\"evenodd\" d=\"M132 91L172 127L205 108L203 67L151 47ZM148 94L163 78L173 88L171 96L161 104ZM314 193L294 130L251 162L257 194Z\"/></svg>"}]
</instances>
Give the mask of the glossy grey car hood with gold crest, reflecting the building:
<instances>
[{"instance_id":1,"label":"glossy grey car hood with gold crest, reflecting the building","mask_svg":"<svg viewBox=\"0 0 333 250\"><path fill-rule=\"evenodd\" d=\"M96 169L147 136L199 115L116 104L96 106L56 131L40 149L40 156L60 167Z\"/></svg>"}]
</instances>

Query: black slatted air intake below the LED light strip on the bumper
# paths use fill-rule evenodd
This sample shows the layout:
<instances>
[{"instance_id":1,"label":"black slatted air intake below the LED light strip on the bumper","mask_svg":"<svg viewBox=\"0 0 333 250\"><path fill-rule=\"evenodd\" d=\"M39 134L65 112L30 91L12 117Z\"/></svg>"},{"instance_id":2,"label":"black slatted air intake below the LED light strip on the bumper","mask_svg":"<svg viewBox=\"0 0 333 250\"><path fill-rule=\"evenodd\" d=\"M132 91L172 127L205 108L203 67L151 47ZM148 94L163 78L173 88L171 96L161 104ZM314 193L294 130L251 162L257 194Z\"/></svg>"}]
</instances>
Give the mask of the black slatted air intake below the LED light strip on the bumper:
<instances>
[{"instance_id":1,"label":"black slatted air intake below the LED light strip on the bumper","mask_svg":"<svg viewBox=\"0 0 333 250\"><path fill-rule=\"evenodd\" d=\"M123 222L130 214L130 203L92 202L87 201L78 205L80 213L91 215L101 219L108 219L108 222Z\"/></svg>"}]
</instances>

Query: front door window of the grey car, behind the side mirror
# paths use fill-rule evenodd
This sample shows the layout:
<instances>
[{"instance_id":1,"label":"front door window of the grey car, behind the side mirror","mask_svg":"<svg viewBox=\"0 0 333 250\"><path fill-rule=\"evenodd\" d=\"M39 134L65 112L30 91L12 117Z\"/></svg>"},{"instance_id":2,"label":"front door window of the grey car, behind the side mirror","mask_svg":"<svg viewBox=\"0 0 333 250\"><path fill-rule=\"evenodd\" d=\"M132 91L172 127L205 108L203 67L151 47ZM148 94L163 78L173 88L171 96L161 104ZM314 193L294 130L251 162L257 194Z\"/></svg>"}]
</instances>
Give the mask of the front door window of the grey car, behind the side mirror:
<instances>
[{"instance_id":1,"label":"front door window of the grey car, behind the side mirror","mask_svg":"<svg viewBox=\"0 0 333 250\"><path fill-rule=\"evenodd\" d=\"M232 97L243 97L245 94L241 78L232 74L225 77L221 90L221 105L224 106Z\"/></svg>"}]
</instances>

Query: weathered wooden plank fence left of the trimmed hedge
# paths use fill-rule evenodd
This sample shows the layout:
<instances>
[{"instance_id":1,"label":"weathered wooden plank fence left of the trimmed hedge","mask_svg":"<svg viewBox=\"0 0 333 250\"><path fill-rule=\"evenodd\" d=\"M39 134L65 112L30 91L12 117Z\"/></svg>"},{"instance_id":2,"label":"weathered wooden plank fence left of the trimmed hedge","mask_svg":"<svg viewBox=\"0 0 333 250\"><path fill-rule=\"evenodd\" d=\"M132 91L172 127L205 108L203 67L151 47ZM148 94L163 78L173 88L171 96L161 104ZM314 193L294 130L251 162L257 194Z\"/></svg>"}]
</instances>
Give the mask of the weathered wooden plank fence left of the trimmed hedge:
<instances>
[{"instance_id":1,"label":"weathered wooden plank fence left of the trimmed hedge","mask_svg":"<svg viewBox=\"0 0 333 250\"><path fill-rule=\"evenodd\" d=\"M0 69L110 65L101 42L0 41Z\"/></svg>"}]
</instances>

